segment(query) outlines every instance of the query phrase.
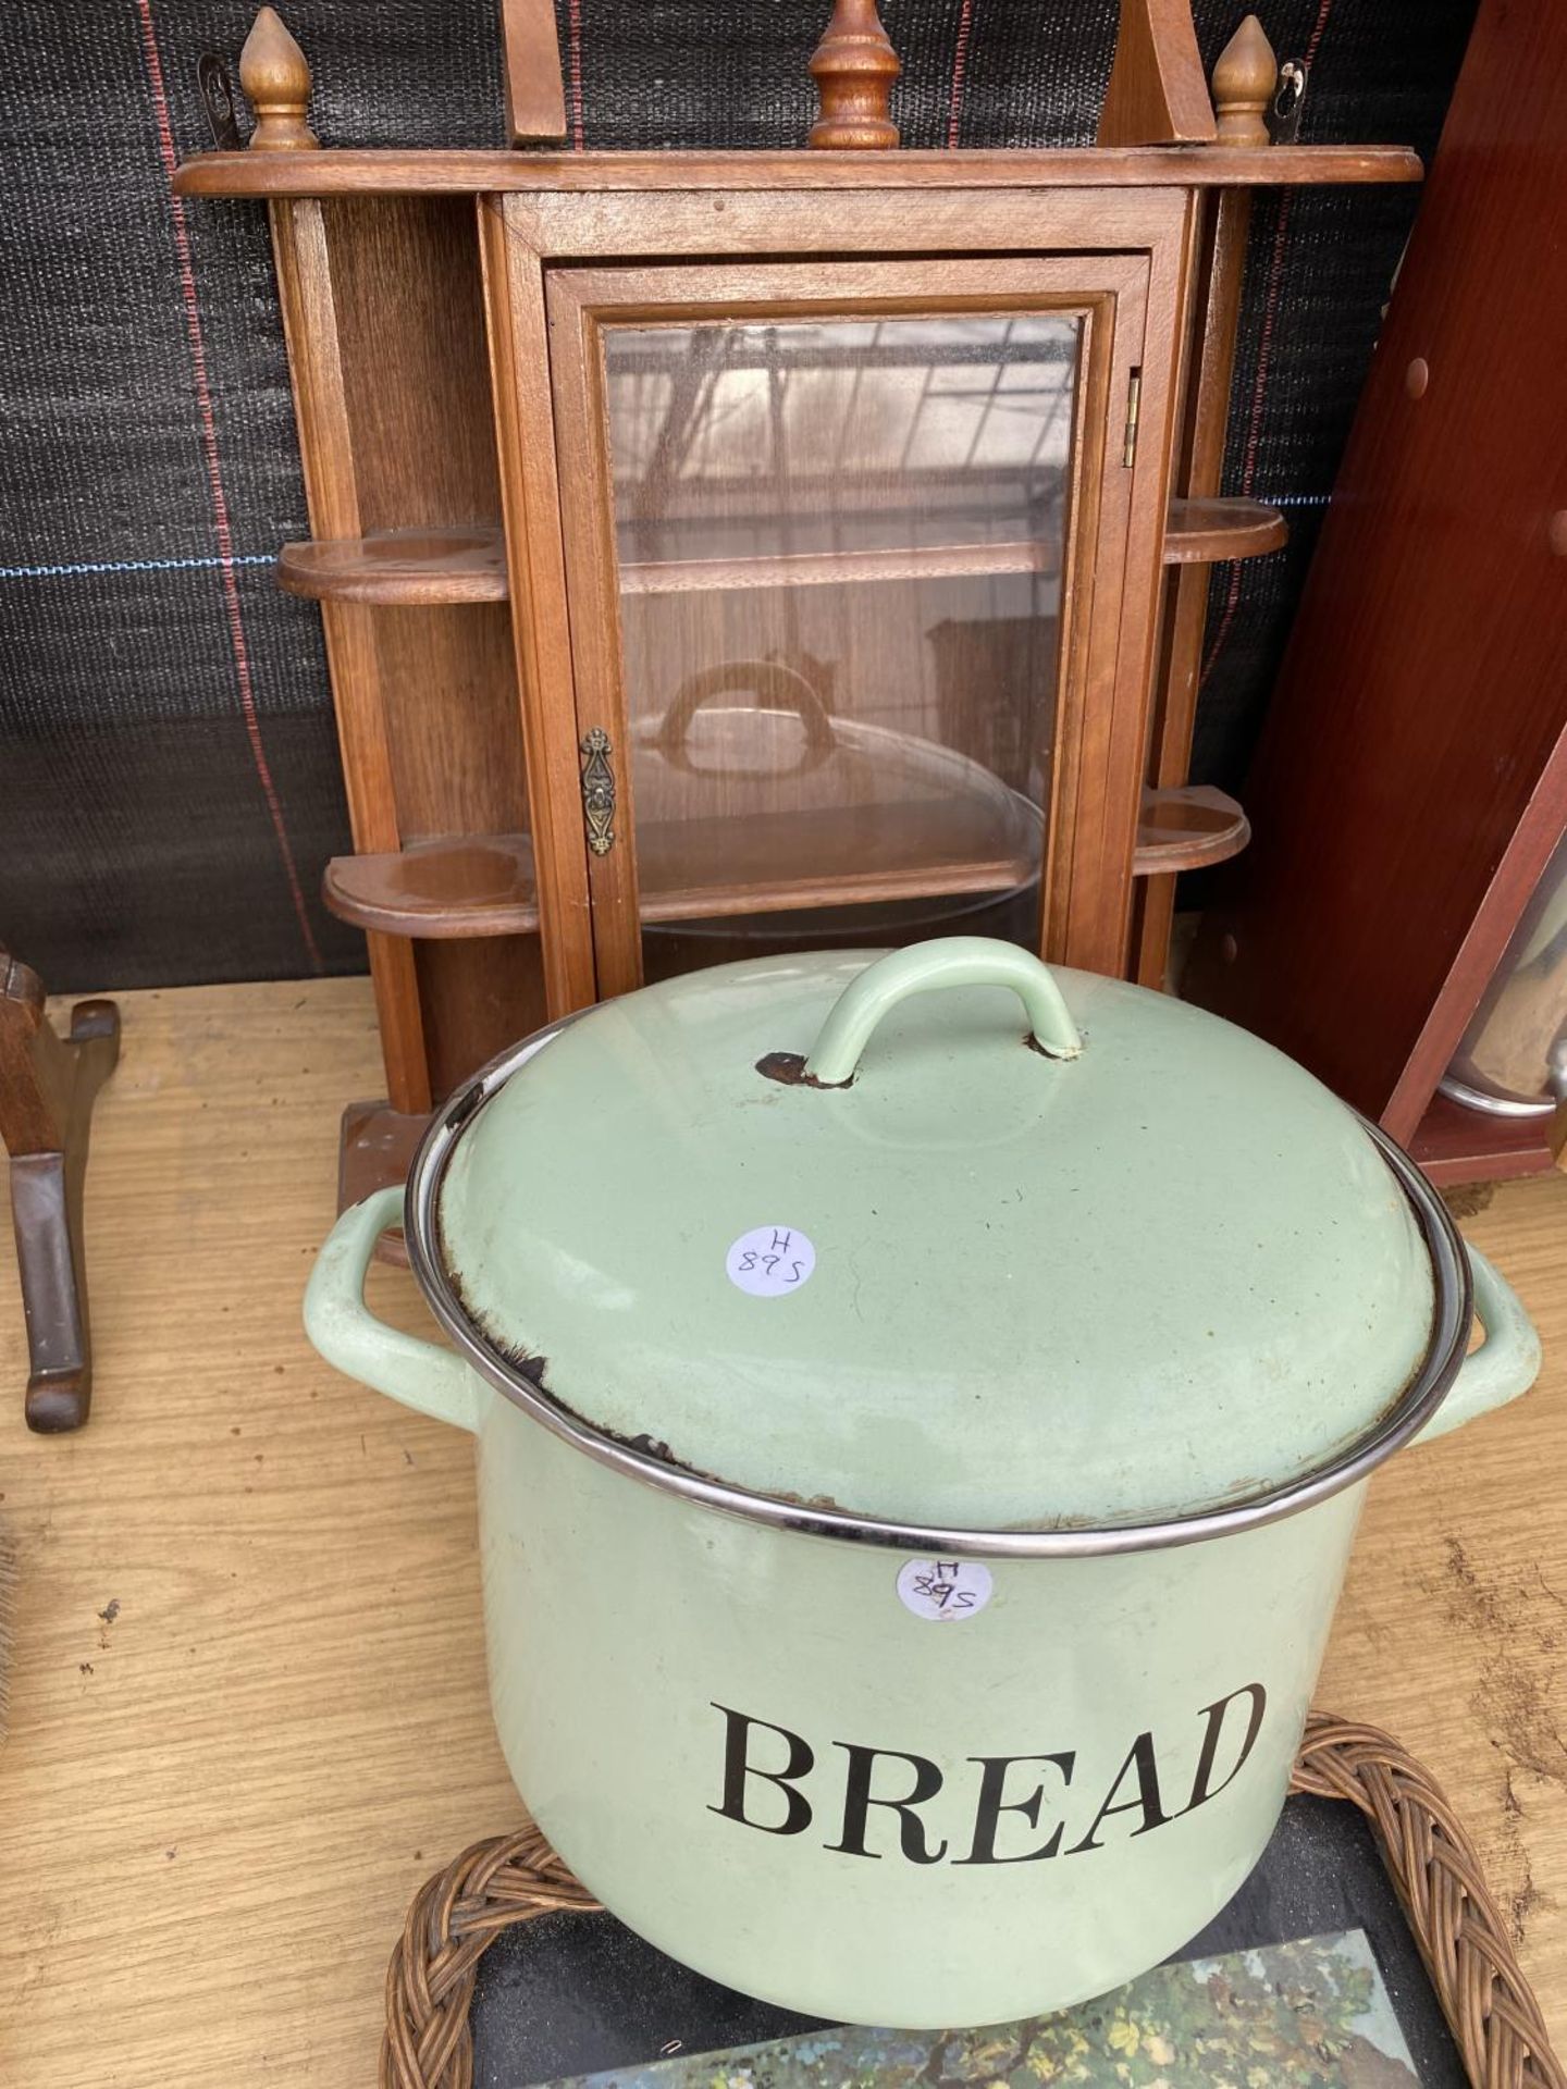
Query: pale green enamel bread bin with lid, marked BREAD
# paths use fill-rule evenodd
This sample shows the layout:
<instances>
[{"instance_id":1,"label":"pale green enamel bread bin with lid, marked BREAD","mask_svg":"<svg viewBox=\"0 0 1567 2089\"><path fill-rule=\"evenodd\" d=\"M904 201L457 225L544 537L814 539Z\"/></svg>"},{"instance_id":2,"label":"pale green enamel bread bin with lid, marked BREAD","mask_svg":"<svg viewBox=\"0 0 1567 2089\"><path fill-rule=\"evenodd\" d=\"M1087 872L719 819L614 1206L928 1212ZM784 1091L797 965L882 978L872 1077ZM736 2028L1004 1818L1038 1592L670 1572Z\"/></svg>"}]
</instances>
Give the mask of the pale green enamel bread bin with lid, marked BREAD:
<instances>
[{"instance_id":1,"label":"pale green enamel bread bin with lid, marked BREAD","mask_svg":"<svg viewBox=\"0 0 1567 2089\"><path fill-rule=\"evenodd\" d=\"M364 1306L399 1222L449 1347ZM495 1721L566 1863L715 1980L911 2028L1224 1905L1369 1475L1538 1370L1306 1072L982 938L539 1032L343 1214L307 1327L474 1435Z\"/></svg>"}]
</instances>

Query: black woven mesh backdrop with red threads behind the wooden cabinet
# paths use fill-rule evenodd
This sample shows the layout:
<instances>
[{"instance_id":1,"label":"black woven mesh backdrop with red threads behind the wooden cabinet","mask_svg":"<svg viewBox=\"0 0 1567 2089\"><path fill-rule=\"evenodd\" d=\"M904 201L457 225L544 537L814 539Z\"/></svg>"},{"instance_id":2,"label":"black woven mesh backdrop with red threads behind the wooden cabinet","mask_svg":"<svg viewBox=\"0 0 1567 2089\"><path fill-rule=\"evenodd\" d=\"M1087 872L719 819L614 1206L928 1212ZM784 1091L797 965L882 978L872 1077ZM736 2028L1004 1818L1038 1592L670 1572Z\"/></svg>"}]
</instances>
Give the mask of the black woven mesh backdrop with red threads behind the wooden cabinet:
<instances>
[{"instance_id":1,"label":"black woven mesh backdrop with red threads behind the wooden cabinet","mask_svg":"<svg viewBox=\"0 0 1567 2089\"><path fill-rule=\"evenodd\" d=\"M178 207L207 144L196 56L236 69L249 6L6 10L0 274L0 942L65 990L347 971L322 909L347 846L311 604L265 211ZM1235 0L1197 0L1203 58ZM560 0L585 146L786 146L825 0ZM293 0L326 144L501 144L493 0ZM1114 0L886 0L909 144L1084 144ZM1473 0L1270 0L1312 58L1302 136L1435 144ZM1262 196L1229 487L1283 503L1287 554L1218 568L1195 773L1245 767L1414 190Z\"/></svg>"}]
</instances>

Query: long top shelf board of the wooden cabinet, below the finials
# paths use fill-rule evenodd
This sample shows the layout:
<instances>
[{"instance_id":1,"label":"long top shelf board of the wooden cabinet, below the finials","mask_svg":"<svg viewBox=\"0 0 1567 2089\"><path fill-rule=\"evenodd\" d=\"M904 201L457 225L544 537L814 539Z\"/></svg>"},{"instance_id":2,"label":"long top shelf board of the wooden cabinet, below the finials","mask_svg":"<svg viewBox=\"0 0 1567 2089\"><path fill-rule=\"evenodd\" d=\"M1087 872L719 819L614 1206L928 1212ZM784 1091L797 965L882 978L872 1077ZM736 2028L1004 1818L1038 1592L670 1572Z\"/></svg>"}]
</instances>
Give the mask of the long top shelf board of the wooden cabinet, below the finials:
<instances>
[{"instance_id":1,"label":"long top shelf board of the wooden cabinet, below the finials","mask_svg":"<svg viewBox=\"0 0 1567 2089\"><path fill-rule=\"evenodd\" d=\"M882 165L882 163L888 165ZM196 152L182 196L506 194L692 188L1289 188L1419 182L1400 144L1070 146L942 152Z\"/></svg>"}]
</instances>

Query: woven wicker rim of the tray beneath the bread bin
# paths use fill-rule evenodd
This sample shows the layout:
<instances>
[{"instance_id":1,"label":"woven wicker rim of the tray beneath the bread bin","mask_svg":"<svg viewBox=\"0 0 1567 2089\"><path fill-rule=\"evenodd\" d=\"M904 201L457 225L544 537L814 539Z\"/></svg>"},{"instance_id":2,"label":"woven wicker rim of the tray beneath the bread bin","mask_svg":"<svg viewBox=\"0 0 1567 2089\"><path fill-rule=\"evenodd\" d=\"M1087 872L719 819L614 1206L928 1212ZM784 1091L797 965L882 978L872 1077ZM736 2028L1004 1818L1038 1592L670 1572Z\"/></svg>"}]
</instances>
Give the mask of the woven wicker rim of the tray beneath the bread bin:
<instances>
[{"instance_id":1,"label":"woven wicker rim of the tray beneath the bread bin","mask_svg":"<svg viewBox=\"0 0 1567 2089\"><path fill-rule=\"evenodd\" d=\"M1375 1726L1312 1713L1291 1790L1371 1822L1475 2089L1567 2089L1475 1847L1414 1757ZM478 1959L512 1922L560 1907L598 1901L533 1826L474 1842L420 1886L387 1968L380 2089L472 2089Z\"/></svg>"}]
</instances>

